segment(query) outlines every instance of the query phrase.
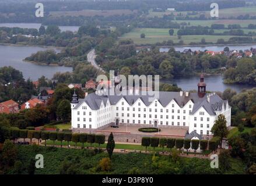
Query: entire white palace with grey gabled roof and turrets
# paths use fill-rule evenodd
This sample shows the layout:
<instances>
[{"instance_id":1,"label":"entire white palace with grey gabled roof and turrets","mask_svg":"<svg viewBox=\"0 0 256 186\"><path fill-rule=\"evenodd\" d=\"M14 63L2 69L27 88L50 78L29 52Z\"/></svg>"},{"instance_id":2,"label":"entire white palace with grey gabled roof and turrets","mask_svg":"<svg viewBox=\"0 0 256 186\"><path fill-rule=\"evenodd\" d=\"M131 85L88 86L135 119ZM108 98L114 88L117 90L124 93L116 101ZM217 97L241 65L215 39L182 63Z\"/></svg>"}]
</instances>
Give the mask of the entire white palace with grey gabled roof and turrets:
<instances>
[{"instance_id":1,"label":"entire white palace with grey gabled roof and turrets","mask_svg":"<svg viewBox=\"0 0 256 186\"><path fill-rule=\"evenodd\" d=\"M206 93L204 76L198 92L159 92L159 99L149 102L146 95L89 94L71 101L72 129L92 132L118 124L143 127L187 128L188 133L209 139L211 128L222 114L230 126L231 107L218 94ZM185 135L185 134L184 134ZM188 135L188 134L187 134Z\"/></svg>"}]
</instances>

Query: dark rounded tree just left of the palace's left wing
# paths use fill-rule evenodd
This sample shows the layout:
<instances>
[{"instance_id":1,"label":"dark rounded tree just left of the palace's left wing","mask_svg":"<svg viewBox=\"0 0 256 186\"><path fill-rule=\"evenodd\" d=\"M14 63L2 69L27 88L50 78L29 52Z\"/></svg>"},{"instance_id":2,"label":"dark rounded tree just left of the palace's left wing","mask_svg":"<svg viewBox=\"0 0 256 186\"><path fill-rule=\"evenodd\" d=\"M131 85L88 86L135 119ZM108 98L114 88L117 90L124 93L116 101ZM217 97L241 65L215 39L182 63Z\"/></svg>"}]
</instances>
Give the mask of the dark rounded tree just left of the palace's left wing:
<instances>
[{"instance_id":1,"label":"dark rounded tree just left of the palace's left wing","mask_svg":"<svg viewBox=\"0 0 256 186\"><path fill-rule=\"evenodd\" d=\"M65 123L71 116L70 102L63 99L57 106L57 116Z\"/></svg>"}]
</instances>

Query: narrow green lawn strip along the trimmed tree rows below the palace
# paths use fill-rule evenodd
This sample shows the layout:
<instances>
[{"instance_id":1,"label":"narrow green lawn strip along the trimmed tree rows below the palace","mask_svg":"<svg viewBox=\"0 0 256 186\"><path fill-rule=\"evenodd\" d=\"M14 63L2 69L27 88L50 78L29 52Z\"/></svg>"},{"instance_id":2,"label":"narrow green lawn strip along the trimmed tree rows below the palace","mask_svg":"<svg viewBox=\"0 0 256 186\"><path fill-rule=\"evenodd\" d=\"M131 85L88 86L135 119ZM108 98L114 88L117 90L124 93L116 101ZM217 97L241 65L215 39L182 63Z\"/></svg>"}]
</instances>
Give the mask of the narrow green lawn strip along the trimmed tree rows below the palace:
<instances>
[{"instance_id":1,"label":"narrow green lawn strip along the trimmed tree rows below the palace","mask_svg":"<svg viewBox=\"0 0 256 186\"><path fill-rule=\"evenodd\" d=\"M51 140L47 140L46 142L47 145L53 145L53 141ZM55 141L54 142L55 145L61 145L61 142L59 141ZM68 142L62 142L62 145L64 146L68 146ZM75 146L75 143L74 142L69 142L69 145L71 146ZM78 143L77 146L82 146L83 144L82 143ZM85 147L90 147L90 144L89 143L85 143L84 144ZM103 145L100 145L100 148L106 148L107 144L103 144ZM92 144L92 147L95 147L95 148L98 148L99 147L99 144ZM115 149L127 149L127 150L136 150L136 151L145 151L146 148L144 146L141 146L141 145L132 145L132 144L115 144ZM153 147L149 146L148 151L153 151ZM163 151L163 148L161 147L156 147L155 148L155 151L156 152L162 152ZM166 148L164 147L164 151L170 151L170 148ZM194 152L190 152L190 153L194 153ZM205 151L204 153L199 153L199 154L209 154L211 153L210 151Z\"/></svg>"}]
</instances>

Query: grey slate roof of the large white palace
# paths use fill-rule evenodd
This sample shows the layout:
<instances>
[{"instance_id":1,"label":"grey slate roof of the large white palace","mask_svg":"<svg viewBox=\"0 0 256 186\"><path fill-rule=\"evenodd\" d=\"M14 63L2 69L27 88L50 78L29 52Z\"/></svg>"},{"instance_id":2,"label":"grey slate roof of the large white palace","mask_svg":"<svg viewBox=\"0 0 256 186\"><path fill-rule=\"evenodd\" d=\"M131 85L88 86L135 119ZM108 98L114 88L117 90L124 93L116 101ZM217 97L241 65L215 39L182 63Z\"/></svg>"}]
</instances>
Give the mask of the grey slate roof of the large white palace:
<instances>
[{"instance_id":1,"label":"grey slate roof of the large white palace","mask_svg":"<svg viewBox=\"0 0 256 186\"><path fill-rule=\"evenodd\" d=\"M197 110L201 107L204 107L205 110L209 113L209 115L216 115L216 110L222 109L222 104L227 101L223 101L219 95L213 94L210 97L210 102L208 102L207 96L209 94L205 94L203 98L198 96L197 92L190 92L188 96L180 96L180 92L159 92L159 99L158 101L162 104L163 107L167 106L171 100L174 99L176 103L183 108L183 106L188 102L192 101L194 103L194 107L192 109L192 114L197 112ZM90 106L92 110L97 110L100 108L100 104L103 101L104 105L106 105L107 100L109 99L111 105L115 105L122 97L129 103L129 105L133 105L138 98L141 98L142 102L149 106L151 102L149 102L149 95L102 95L99 96L97 94L91 93L85 97L85 99L79 99L78 105L76 105L75 109L79 108L79 106L86 102L87 105Z\"/></svg>"}]
</instances>

